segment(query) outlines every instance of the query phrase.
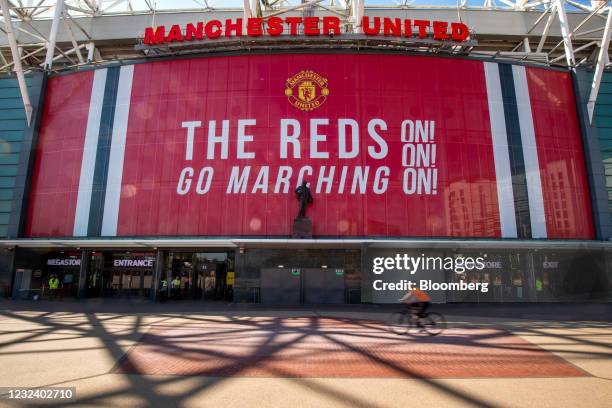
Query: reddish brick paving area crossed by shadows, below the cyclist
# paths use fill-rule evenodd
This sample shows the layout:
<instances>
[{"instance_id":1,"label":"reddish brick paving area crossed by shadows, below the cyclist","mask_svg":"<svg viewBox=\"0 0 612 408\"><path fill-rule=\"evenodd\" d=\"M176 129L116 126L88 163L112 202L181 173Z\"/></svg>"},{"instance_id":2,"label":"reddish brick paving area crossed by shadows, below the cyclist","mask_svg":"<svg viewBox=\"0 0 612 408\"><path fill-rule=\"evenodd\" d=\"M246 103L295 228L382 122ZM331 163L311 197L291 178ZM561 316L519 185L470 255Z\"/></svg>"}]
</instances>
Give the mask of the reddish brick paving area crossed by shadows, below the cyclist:
<instances>
[{"instance_id":1,"label":"reddish brick paving area crossed by shadows, below the cyclist","mask_svg":"<svg viewBox=\"0 0 612 408\"><path fill-rule=\"evenodd\" d=\"M586 374L495 328L406 336L334 318L184 321L153 326L116 372L210 377L521 378Z\"/></svg>"}]
</instances>

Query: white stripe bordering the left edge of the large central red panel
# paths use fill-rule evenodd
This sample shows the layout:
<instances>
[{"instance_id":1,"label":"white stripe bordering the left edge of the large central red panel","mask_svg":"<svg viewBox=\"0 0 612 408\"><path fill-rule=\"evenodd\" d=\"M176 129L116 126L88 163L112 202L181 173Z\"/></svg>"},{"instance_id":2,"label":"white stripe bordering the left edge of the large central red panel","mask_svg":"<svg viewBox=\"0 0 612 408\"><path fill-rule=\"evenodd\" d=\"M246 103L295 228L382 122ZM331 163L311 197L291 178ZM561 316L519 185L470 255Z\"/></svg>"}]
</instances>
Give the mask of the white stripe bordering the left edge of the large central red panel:
<instances>
[{"instance_id":1,"label":"white stripe bordering the left edge of the large central red panel","mask_svg":"<svg viewBox=\"0 0 612 408\"><path fill-rule=\"evenodd\" d=\"M125 156L125 138L127 136L130 99L132 96L132 78L134 66L121 67L117 105L113 120L108 178L106 180L106 199L104 200L104 217L102 219L102 236L116 236L119 220L119 202L121 201L121 183L123 181L123 159Z\"/></svg>"}]
</instances>

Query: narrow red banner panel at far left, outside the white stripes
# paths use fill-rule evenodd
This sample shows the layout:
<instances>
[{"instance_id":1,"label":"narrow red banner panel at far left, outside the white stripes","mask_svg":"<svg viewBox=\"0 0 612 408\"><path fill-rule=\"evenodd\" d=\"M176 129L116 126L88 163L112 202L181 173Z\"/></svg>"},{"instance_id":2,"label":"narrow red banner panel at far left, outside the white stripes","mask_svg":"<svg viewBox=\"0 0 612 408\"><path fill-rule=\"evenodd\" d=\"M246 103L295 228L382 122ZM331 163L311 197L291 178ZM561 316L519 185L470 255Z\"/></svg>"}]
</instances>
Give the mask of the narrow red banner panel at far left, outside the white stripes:
<instances>
[{"instance_id":1,"label":"narrow red banner panel at far left, outside the white stripes","mask_svg":"<svg viewBox=\"0 0 612 408\"><path fill-rule=\"evenodd\" d=\"M49 78L25 235L71 236L93 71Z\"/></svg>"}]
</instances>

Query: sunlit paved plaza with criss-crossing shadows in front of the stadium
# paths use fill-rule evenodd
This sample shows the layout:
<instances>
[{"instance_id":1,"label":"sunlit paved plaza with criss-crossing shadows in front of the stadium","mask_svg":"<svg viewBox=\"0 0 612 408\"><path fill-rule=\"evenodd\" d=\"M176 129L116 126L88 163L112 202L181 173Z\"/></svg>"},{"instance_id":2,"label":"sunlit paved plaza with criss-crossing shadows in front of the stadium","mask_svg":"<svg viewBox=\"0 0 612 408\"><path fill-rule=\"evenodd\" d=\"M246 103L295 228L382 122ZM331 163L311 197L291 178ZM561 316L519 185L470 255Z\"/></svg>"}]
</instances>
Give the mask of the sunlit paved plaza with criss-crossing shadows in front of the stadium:
<instances>
[{"instance_id":1,"label":"sunlit paved plaza with criss-crossing shadows in front of the stadium","mask_svg":"<svg viewBox=\"0 0 612 408\"><path fill-rule=\"evenodd\" d=\"M392 333L388 313L367 308L120 314L71 310L78 302L65 311L25 306L0 311L0 386L76 387L79 406L606 407L612 400L606 321L447 313L448 330L430 337ZM28 401L5 395L0 405Z\"/></svg>"}]
</instances>

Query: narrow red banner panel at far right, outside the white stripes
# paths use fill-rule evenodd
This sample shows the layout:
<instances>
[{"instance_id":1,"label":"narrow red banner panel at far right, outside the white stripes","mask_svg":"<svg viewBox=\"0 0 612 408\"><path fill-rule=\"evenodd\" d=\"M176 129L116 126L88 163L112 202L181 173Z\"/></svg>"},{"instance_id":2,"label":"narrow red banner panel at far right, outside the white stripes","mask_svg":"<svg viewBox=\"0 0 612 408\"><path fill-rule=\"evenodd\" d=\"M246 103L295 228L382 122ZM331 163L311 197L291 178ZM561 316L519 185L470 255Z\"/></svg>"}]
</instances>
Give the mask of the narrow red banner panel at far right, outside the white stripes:
<instances>
[{"instance_id":1,"label":"narrow red banner panel at far right, outside the white stripes","mask_svg":"<svg viewBox=\"0 0 612 408\"><path fill-rule=\"evenodd\" d=\"M595 235L584 150L568 73L528 68L549 238Z\"/></svg>"}]
</instances>

